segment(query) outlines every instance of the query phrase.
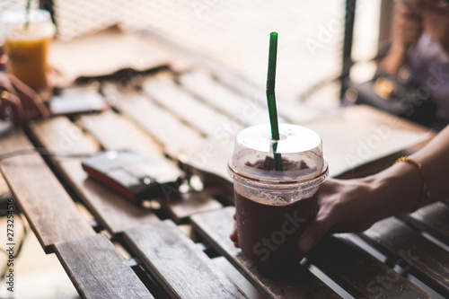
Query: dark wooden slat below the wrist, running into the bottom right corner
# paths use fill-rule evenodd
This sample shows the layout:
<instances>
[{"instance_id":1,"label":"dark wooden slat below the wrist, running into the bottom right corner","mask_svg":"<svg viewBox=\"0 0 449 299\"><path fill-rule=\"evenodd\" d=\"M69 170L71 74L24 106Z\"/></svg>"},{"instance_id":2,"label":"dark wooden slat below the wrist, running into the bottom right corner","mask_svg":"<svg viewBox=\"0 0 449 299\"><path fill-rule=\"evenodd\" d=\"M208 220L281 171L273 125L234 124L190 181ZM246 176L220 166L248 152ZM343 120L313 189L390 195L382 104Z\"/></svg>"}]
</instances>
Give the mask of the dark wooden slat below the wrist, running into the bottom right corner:
<instances>
[{"instance_id":1,"label":"dark wooden slat below the wrist, running into the bottom right corner","mask_svg":"<svg viewBox=\"0 0 449 299\"><path fill-rule=\"evenodd\" d=\"M449 295L449 254L443 248L394 218L374 224L360 237L379 251L408 263L413 275Z\"/></svg>"}]
</instances>

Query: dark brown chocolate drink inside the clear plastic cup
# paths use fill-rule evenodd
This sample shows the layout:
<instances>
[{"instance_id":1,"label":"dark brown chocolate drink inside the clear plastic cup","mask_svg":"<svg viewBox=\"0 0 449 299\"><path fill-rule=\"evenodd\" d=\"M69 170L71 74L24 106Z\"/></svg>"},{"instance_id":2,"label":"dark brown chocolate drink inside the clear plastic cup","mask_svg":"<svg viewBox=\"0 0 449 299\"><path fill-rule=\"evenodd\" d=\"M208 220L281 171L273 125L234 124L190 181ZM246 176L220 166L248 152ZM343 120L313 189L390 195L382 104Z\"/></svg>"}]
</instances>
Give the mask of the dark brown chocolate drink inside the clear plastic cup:
<instances>
[{"instance_id":1,"label":"dark brown chocolate drink inside the clear plastic cup","mask_svg":"<svg viewBox=\"0 0 449 299\"><path fill-rule=\"evenodd\" d=\"M282 160L284 171L308 168L304 161ZM274 161L267 157L247 166L273 171ZM318 211L317 194L290 202L276 190L245 197L235 190L235 206L239 244L246 258L260 269L286 268L303 259L297 241L304 227Z\"/></svg>"}]
</instances>

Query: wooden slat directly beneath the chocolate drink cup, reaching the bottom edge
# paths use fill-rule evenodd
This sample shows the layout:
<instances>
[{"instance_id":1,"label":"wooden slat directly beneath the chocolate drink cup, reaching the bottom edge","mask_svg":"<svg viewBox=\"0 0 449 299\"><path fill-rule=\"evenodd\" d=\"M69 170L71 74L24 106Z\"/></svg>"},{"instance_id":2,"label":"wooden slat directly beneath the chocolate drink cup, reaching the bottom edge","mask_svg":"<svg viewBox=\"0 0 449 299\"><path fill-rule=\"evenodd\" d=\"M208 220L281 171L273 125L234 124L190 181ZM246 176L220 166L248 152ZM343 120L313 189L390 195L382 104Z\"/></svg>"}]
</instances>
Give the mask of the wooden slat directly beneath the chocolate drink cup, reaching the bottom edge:
<instances>
[{"instance_id":1,"label":"wooden slat directly beneath the chocolate drink cup, reaching the bottom edge","mask_svg":"<svg viewBox=\"0 0 449 299\"><path fill-rule=\"evenodd\" d=\"M291 277L262 275L242 252L233 246L229 235L233 232L234 207L201 213L190 217L195 229L216 251L220 252L259 291L270 298L339 298L334 291L305 268L298 268Z\"/></svg>"}]
</instances>

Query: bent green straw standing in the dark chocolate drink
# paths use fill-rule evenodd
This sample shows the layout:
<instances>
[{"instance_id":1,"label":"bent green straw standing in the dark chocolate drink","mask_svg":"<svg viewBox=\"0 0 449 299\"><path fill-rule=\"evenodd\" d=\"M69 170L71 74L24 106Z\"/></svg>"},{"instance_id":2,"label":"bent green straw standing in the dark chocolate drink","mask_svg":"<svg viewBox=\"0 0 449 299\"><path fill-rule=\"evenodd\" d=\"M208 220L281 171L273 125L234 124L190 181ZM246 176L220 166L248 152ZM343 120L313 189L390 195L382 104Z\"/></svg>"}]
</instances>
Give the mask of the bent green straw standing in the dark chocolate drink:
<instances>
[{"instance_id":1,"label":"bent green straw standing in the dark chocolate drink","mask_svg":"<svg viewBox=\"0 0 449 299\"><path fill-rule=\"evenodd\" d=\"M279 140L279 126L277 124L277 109L275 96L277 60L277 32L269 35L269 74L267 75L267 101L269 102L269 124L271 126L271 139L273 142L273 153L275 158L275 170L282 171L282 157L277 154L277 141Z\"/></svg>"}]
</instances>

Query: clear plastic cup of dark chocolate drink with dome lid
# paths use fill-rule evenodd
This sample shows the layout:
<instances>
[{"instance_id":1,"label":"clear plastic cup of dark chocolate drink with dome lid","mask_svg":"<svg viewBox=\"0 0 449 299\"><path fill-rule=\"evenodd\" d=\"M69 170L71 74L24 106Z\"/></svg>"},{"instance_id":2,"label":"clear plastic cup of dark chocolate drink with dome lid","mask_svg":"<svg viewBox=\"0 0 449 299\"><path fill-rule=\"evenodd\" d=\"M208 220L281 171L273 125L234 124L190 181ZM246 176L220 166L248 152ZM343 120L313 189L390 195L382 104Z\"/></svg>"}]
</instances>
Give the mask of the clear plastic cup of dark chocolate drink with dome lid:
<instances>
[{"instance_id":1,"label":"clear plastic cup of dark chocolate drink with dome lid","mask_svg":"<svg viewBox=\"0 0 449 299\"><path fill-rule=\"evenodd\" d=\"M260 269L285 269L304 258L297 241L318 212L318 190L329 173L318 134L288 124L279 133L283 171L274 170L269 125L243 129L228 163L239 244Z\"/></svg>"}]
</instances>

